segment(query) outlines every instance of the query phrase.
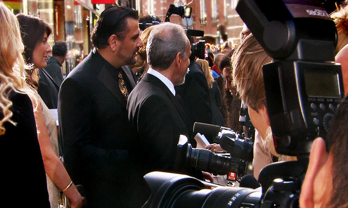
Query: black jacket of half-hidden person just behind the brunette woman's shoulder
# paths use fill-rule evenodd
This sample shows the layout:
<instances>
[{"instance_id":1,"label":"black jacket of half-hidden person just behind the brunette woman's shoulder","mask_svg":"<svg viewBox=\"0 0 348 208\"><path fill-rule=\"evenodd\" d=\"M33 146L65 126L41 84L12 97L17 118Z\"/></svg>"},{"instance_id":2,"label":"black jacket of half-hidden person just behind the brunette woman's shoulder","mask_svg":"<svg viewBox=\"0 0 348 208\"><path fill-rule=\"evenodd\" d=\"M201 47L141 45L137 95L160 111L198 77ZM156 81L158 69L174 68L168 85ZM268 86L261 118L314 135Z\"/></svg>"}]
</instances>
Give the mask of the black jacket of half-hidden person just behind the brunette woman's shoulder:
<instances>
[{"instance_id":1,"label":"black jacket of half-hidden person just behind the brunette woman's shoulder","mask_svg":"<svg viewBox=\"0 0 348 208\"><path fill-rule=\"evenodd\" d=\"M46 69L39 69L38 93L49 109L57 109L59 85Z\"/></svg>"}]
</instances>

